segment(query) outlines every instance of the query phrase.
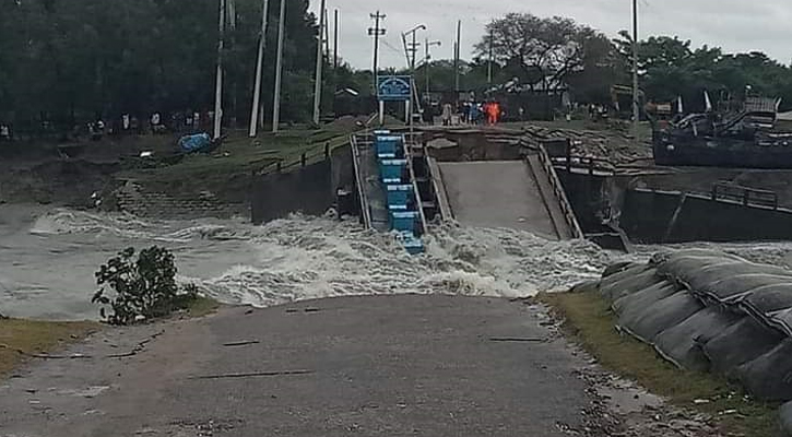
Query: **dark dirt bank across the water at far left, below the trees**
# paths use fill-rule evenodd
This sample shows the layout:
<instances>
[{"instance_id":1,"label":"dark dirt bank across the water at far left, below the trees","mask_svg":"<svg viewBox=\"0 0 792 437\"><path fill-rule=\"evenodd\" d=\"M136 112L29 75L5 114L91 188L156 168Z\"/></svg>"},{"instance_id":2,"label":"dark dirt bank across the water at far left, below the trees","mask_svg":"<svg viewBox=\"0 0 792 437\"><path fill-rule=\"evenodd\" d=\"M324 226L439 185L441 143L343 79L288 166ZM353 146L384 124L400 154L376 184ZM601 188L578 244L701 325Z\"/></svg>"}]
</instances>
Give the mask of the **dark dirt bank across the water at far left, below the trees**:
<instances>
[{"instance_id":1,"label":"dark dirt bank across the water at far left, below the trees","mask_svg":"<svg viewBox=\"0 0 792 437\"><path fill-rule=\"evenodd\" d=\"M208 166L179 172L184 161L170 135L107 139L79 144L0 144L0 202L115 210L117 194L134 180L143 191L199 199L211 191L218 204L245 202L249 172ZM141 158L150 151L152 158ZM190 160L190 158L188 158ZM245 180L240 180L240 178Z\"/></svg>"}]
</instances>

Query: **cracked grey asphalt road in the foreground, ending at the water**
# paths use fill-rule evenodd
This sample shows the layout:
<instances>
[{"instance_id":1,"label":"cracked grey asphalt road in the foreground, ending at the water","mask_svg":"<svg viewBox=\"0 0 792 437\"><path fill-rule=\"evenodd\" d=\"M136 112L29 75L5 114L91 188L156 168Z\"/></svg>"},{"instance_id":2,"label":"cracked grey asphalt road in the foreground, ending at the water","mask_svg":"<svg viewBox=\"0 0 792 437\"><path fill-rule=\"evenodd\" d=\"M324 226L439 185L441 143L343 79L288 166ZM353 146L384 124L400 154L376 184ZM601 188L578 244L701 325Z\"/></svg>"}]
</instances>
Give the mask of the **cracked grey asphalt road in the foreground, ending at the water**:
<instances>
[{"instance_id":1,"label":"cracked grey asphalt road in the foreground, ending at the water","mask_svg":"<svg viewBox=\"0 0 792 437\"><path fill-rule=\"evenodd\" d=\"M91 358L0 386L0 436L566 436L589 404L582 363L541 320L398 296L110 330L67 352ZM224 345L239 341L258 343Z\"/></svg>"}]
</instances>

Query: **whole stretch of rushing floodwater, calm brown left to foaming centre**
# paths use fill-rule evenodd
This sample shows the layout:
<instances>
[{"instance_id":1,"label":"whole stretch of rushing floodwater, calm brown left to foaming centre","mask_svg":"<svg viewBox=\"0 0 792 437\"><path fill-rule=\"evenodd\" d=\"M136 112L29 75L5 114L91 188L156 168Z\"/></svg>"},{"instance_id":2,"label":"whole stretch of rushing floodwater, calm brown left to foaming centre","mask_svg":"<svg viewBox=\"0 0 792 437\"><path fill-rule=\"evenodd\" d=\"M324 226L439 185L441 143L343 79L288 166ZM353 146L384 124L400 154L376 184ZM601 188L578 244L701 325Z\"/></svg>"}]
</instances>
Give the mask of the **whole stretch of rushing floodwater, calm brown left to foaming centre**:
<instances>
[{"instance_id":1,"label":"whole stretch of rushing floodwater, calm brown left to foaming centre","mask_svg":"<svg viewBox=\"0 0 792 437\"><path fill-rule=\"evenodd\" d=\"M0 206L0 314L94 319L94 272L118 251L159 245L178 279L225 304L267 307L320 297L457 294L529 297L595 279L612 253L509 229L438 226L411 257L357 221L293 216L149 221L42 206Z\"/></svg>"}]
</instances>

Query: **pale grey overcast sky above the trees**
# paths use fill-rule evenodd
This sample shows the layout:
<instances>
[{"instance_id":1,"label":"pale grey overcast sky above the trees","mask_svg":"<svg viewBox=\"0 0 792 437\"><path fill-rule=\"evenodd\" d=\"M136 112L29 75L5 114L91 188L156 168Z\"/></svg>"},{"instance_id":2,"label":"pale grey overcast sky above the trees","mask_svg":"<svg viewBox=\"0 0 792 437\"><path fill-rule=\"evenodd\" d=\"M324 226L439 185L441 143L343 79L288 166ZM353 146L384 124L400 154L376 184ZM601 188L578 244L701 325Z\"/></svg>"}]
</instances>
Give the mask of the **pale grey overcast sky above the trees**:
<instances>
[{"instance_id":1,"label":"pale grey overcast sky above the trees","mask_svg":"<svg viewBox=\"0 0 792 437\"><path fill-rule=\"evenodd\" d=\"M318 11L319 0L310 0ZM404 67L400 34L426 24L425 37L442 42L433 58L452 58L457 20L462 20L462 57L470 58L484 25L508 12L539 16L562 15L598 28L608 36L631 26L631 0L328 0L341 14L340 55L353 67L370 69L373 42L366 29L369 13L387 15L388 31L380 46L380 66ZM708 44L728 51L761 50L789 63L792 59L792 1L790 0L639 0L641 37L678 35L694 46ZM332 37L332 27L330 27ZM422 47L423 55L423 47Z\"/></svg>"}]
</instances>

